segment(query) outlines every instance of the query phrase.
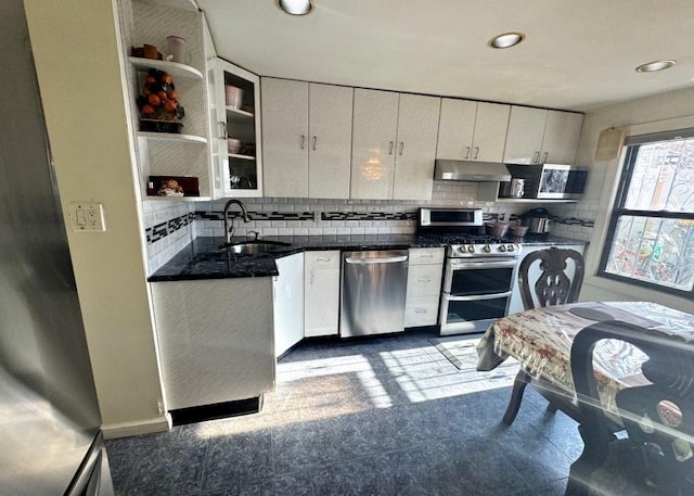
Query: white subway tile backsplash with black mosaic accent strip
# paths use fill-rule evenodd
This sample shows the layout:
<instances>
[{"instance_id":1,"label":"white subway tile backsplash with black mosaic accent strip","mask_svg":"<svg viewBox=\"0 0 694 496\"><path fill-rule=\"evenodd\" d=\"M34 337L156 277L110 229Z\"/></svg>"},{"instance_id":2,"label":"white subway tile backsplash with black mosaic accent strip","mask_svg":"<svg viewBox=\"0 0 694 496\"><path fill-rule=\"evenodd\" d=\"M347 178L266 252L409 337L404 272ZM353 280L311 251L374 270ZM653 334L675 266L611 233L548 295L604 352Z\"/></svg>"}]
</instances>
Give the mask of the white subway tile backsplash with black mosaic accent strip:
<instances>
[{"instance_id":1,"label":"white subway tile backsplash with black mosaic accent strip","mask_svg":"<svg viewBox=\"0 0 694 496\"><path fill-rule=\"evenodd\" d=\"M478 202L476 182L434 181L430 201L243 199L253 218L243 222L232 206L234 237L412 233L420 206L483 208L485 218L516 218L534 204ZM223 237L226 200L209 202L145 201L144 226L150 274L196 237ZM589 241L597 204L556 204L553 233Z\"/></svg>"}]
</instances>

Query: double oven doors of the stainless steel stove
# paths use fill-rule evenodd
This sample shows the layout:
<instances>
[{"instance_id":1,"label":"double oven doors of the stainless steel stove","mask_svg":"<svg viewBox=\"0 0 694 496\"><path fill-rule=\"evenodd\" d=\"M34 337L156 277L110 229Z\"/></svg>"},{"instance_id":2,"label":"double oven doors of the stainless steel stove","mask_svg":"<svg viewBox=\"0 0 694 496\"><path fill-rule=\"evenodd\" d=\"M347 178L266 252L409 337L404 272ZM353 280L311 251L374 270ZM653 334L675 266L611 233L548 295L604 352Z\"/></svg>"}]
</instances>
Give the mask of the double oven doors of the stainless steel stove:
<instances>
[{"instance_id":1,"label":"double oven doors of the stainless steel stove","mask_svg":"<svg viewBox=\"0 0 694 496\"><path fill-rule=\"evenodd\" d=\"M441 335L484 332L509 311L517 257L448 258L441 294Z\"/></svg>"}]
</instances>

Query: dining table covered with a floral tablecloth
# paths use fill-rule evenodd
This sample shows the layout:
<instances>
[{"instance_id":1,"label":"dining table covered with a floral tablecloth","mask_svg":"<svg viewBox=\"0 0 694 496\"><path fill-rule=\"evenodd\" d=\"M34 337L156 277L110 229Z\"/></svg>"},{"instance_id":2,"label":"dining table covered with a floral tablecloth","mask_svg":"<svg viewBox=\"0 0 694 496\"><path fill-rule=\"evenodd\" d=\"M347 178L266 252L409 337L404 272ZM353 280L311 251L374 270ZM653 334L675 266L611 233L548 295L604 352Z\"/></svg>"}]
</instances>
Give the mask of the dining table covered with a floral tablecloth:
<instances>
[{"instance_id":1,"label":"dining table covered with a floral tablecloth","mask_svg":"<svg viewBox=\"0 0 694 496\"><path fill-rule=\"evenodd\" d=\"M489 371L509 357L531 377L574 394L570 352L578 332L604 320L621 320L694 342L694 315L653 302L583 302L519 311L496 320L477 346L477 370ZM647 357L629 343L603 340L593 366L605 414L618 421L615 396L625 387L647 384L641 365Z\"/></svg>"}]
</instances>

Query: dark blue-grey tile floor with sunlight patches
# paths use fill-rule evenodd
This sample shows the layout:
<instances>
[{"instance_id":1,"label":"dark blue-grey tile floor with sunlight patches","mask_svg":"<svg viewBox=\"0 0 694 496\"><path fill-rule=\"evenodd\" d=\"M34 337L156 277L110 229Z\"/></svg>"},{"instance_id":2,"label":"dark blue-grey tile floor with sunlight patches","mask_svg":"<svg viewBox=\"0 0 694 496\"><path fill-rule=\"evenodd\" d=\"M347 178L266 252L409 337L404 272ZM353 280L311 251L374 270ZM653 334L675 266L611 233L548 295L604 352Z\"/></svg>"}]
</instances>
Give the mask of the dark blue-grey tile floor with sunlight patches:
<instances>
[{"instance_id":1,"label":"dark blue-grey tile floor with sunlight patches","mask_svg":"<svg viewBox=\"0 0 694 496\"><path fill-rule=\"evenodd\" d=\"M563 495L576 423L528 390L503 427L507 380L430 338L301 343L260 414L110 441L116 494Z\"/></svg>"}]
</instances>

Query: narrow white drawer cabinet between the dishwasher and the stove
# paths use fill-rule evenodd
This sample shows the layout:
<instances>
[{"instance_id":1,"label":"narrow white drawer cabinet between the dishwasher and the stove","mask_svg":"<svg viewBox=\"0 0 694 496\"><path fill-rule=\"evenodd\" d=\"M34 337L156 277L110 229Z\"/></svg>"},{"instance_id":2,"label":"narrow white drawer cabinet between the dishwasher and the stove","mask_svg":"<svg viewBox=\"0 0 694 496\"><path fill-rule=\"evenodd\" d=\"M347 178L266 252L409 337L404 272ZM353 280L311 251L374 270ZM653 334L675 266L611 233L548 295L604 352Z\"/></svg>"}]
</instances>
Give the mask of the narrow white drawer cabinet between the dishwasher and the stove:
<instances>
[{"instance_id":1,"label":"narrow white drawer cabinet between the dishwasher and the stove","mask_svg":"<svg viewBox=\"0 0 694 496\"><path fill-rule=\"evenodd\" d=\"M444 249L410 249L404 327L436 326Z\"/></svg>"}]
</instances>

